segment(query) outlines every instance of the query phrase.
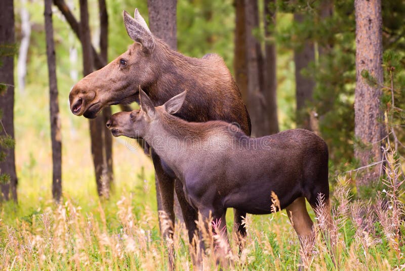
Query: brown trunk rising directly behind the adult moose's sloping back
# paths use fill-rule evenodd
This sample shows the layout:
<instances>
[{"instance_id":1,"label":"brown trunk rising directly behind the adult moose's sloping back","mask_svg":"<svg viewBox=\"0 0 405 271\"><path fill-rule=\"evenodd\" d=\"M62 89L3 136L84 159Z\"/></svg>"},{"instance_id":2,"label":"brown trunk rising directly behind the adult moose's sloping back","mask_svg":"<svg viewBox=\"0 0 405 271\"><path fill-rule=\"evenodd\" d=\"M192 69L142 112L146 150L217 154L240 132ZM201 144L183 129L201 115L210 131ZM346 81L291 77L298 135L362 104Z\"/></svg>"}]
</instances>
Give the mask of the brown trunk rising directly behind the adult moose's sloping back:
<instances>
[{"instance_id":1,"label":"brown trunk rising directly behind the adult moose's sloping back","mask_svg":"<svg viewBox=\"0 0 405 271\"><path fill-rule=\"evenodd\" d=\"M236 85L248 104L248 67L246 50L245 0L235 0L234 73Z\"/></svg>"}]
</instances>

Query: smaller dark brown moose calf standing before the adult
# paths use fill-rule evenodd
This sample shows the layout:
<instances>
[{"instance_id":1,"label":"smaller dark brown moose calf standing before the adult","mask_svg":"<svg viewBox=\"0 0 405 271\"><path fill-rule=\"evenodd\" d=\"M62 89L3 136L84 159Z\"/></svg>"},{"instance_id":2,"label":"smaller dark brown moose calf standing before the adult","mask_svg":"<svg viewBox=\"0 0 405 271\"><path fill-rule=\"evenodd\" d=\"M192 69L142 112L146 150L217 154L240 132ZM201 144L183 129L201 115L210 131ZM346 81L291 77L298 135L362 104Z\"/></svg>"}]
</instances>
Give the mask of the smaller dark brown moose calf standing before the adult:
<instances>
[{"instance_id":1,"label":"smaller dark brown moose calf standing before the adult","mask_svg":"<svg viewBox=\"0 0 405 271\"><path fill-rule=\"evenodd\" d=\"M141 109L114 114L107 127L115 137L145 139L180 178L190 205L205 219L212 215L219 229L226 227L227 208L251 214L275 211L272 192L300 240L312 236L305 199L316 211L317 197L323 195L331 221L328 147L321 138L293 129L254 139L224 121L187 122L172 115L185 96L154 107L140 90Z\"/></svg>"}]
</instances>

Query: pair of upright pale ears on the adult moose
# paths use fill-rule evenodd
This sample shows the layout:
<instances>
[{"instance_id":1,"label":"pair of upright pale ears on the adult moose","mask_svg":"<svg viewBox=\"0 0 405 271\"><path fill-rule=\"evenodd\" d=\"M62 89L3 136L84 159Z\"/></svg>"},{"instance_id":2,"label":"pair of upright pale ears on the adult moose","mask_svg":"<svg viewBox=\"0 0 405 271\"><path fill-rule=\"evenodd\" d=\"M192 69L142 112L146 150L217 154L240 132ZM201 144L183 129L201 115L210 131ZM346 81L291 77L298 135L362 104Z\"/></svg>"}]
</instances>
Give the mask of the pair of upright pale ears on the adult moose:
<instances>
[{"instance_id":1,"label":"pair of upright pale ears on the adult moose","mask_svg":"<svg viewBox=\"0 0 405 271\"><path fill-rule=\"evenodd\" d=\"M135 10L135 19L126 11L124 11L123 16L128 35L132 40L140 43L145 52L150 52L153 49L153 35L138 9Z\"/></svg>"}]
</instances>

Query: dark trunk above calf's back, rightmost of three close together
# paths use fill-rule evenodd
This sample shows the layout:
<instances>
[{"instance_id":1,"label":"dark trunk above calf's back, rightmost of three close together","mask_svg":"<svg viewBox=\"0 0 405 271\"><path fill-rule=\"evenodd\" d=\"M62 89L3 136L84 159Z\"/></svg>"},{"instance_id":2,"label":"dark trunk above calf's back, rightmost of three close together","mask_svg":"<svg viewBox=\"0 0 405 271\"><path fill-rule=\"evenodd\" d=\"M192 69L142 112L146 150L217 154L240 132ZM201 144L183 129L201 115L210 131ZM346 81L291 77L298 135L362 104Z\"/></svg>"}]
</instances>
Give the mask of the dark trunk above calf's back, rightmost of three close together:
<instances>
[{"instance_id":1,"label":"dark trunk above calf's back, rightmost of three close together","mask_svg":"<svg viewBox=\"0 0 405 271\"><path fill-rule=\"evenodd\" d=\"M275 0L264 1L264 32L266 37L271 36L272 32L269 29L271 24L275 25L275 12L270 9L270 4L275 4ZM277 78L276 78L276 48L274 42L266 42L265 44L266 58L264 61L264 96L266 98L267 118L268 118L268 133L273 134L278 132L277 118Z\"/></svg>"}]
</instances>

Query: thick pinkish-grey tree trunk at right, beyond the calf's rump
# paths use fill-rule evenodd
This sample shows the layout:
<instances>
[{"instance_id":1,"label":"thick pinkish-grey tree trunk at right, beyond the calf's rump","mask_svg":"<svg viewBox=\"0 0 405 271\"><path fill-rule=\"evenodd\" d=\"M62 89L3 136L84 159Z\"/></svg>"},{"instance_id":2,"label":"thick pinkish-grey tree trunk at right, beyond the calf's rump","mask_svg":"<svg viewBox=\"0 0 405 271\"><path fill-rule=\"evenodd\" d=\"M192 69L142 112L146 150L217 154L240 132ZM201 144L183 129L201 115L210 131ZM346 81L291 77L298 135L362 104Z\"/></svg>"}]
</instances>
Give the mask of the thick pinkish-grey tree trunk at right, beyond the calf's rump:
<instances>
[{"instance_id":1,"label":"thick pinkish-grey tree trunk at right, beyond the calf's rump","mask_svg":"<svg viewBox=\"0 0 405 271\"><path fill-rule=\"evenodd\" d=\"M354 98L355 137L360 141L354 155L360 166L382 160L382 139L385 136L383 112L380 109L381 88L371 86L361 76L367 70L378 84L383 83L382 69L382 18L380 0L355 0L356 14L356 89ZM366 169L356 179L358 191L361 187L377 181L381 174L381 163Z\"/></svg>"}]
</instances>

